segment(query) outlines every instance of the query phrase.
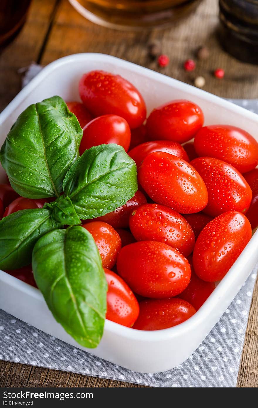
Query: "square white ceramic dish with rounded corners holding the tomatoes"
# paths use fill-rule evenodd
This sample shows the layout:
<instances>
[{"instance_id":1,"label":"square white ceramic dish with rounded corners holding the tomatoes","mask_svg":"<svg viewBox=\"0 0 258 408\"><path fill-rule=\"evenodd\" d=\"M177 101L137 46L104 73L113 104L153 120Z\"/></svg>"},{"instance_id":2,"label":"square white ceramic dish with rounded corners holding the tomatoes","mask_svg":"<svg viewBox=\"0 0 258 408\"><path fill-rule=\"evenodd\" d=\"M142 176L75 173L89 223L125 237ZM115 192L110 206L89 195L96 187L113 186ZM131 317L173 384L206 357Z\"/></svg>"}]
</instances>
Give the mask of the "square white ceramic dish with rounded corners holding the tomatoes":
<instances>
[{"instance_id":1,"label":"square white ceramic dish with rounded corners holding the tomatoes","mask_svg":"<svg viewBox=\"0 0 258 408\"><path fill-rule=\"evenodd\" d=\"M79 100L78 82L92 69L117 73L142 93L148 111L172 99L196 102L205 124L240 126L258 138L258 115L210 93L109 55L84 53L61 58L44 68L0 114L0 145L18 115L31 103L53 95ZM3 177L3 170L0 169ZM2 178L3 180L3 178ZM198 312L186 322L157 331L140 331L106 320L104 336L94 355L130 370L156 373L185 361L232 302L258 261L258 232ZM49 335L82 348L52 317L40 291L0 271L0 308ZM83 349L83 348L82 348Z\"/></svg>"}]
</instances>

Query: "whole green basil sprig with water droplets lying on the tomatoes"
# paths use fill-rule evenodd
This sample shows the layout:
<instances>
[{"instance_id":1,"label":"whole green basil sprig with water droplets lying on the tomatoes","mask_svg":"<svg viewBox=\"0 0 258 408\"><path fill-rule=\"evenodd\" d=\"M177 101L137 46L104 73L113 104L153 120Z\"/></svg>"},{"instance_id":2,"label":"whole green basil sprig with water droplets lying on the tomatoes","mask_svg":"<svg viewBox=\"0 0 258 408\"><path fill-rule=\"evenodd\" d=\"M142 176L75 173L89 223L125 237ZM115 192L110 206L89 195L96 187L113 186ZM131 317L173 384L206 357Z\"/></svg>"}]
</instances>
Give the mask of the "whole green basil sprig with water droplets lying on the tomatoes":
<instances>
[{"instance_id":1,"label":"whole green basil sprig with water droplets lying on the tomatoes","mask_svg":"<svg viewBox=\"0 0 258 408\"><path fill-rule=\"evenodd\" d=\"M92 147L79 157L81 137L79 122L58 96L29 106L11 128L1 162L12 187L23 197L56 200L0 221L0 268L20 268L32 258L53 316L79 344L92 348L103 333L107 282L95 241L78 224L132 198L137 171L116 144Z\"/></svg>"}]
</instances>

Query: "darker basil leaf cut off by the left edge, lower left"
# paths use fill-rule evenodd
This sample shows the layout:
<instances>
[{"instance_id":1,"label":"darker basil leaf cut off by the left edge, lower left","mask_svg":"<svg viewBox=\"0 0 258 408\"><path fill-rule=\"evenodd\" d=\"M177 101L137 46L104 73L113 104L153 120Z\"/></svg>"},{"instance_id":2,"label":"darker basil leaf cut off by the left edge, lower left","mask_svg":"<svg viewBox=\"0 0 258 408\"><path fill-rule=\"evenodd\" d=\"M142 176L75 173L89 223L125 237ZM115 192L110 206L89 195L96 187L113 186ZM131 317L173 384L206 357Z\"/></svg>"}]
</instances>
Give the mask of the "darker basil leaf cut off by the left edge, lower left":
<instances>
[{"instance_id":1,"label":"darker basil leaf cut off by the left edge, lower left","mask_svg":"<svg viewBox=\"0 0 258 408\"><path fill-rule=\"evenodd\" d=\"M0 268L4 271L31 263L33 246L42 235L60 228L51 211L21 210L0 221Z\"/></svg>"}]
</instances>

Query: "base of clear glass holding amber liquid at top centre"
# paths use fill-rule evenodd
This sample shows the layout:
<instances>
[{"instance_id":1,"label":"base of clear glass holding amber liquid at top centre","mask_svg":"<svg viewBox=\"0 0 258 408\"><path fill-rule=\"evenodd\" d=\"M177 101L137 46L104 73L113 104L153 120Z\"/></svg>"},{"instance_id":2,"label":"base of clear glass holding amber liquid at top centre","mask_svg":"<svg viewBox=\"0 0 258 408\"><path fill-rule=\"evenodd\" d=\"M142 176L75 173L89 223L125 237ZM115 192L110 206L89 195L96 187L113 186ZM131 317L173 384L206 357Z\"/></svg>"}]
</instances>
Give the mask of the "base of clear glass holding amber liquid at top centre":
<instances>
[{"instance_id":1,"label":"base of clear glass holding amber liquid at top centre","mask_svg":"<svg viewBox=\"0 0 258 408\"><path fill-rule=\"evenodd\" d=\"M165 27L196 9L201 0L69 0L88 20L118 29Z\"/></svg>"}]
</instances>

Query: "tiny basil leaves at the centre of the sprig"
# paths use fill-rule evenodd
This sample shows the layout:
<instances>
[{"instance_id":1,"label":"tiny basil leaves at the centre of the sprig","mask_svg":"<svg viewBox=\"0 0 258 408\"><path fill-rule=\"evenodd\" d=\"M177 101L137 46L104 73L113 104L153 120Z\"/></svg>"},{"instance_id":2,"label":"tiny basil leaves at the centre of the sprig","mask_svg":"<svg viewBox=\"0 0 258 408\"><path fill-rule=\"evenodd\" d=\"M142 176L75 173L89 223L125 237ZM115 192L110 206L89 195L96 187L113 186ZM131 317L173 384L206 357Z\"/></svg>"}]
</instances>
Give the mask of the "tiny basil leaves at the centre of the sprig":
<instances>
[{"instance_id":1,"label":"tiny basil leaves at the centre of the sprig","mask_svg":"<svg viewBox=\"0 0 258 408\"><path fill-rule=\"evenodd\" d=\"M62 195L54 202L45 203L44 208L52 210L52 217L59 224L81 224L81 220L78 218L78 215L76 214L75 208L69 197L64 197L64 195Z\"/></svg>"}]
</instances>

